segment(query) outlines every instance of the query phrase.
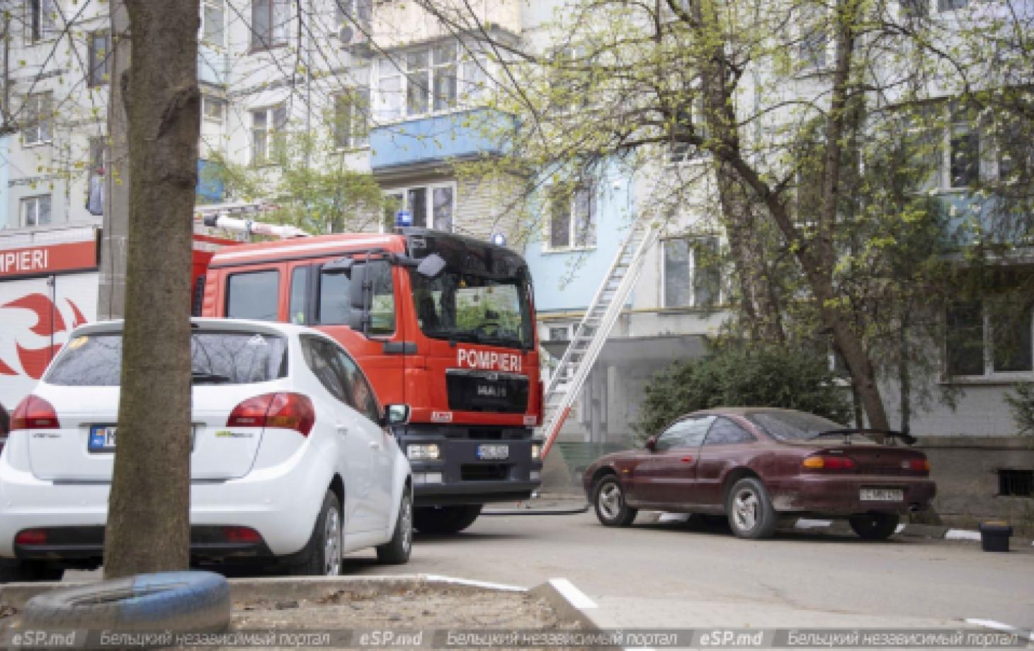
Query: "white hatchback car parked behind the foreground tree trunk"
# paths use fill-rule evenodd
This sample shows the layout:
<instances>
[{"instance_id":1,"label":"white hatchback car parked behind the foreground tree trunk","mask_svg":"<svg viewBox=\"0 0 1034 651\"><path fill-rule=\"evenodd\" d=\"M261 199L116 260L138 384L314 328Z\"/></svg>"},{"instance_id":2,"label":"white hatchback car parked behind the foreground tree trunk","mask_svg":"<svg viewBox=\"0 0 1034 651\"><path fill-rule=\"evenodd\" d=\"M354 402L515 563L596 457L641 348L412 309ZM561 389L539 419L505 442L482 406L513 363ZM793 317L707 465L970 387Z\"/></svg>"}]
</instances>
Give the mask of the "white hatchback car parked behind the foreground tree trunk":
<instances>
[{"instance_id":1,"label":"white hatchback car parked behind the foreground tree trunk","mask_svg":"<svg viewBox=\"0 0 1034 651\"><path fill-rule=\"evenodd\" d=\"M409 558L409 463L362 370L306 328L192 319L190 552L337 575L375 547ZM11 414L0 454L3 580L96 567L117 441L122 322L72 333Z\"/></svg>"}]
</instances>

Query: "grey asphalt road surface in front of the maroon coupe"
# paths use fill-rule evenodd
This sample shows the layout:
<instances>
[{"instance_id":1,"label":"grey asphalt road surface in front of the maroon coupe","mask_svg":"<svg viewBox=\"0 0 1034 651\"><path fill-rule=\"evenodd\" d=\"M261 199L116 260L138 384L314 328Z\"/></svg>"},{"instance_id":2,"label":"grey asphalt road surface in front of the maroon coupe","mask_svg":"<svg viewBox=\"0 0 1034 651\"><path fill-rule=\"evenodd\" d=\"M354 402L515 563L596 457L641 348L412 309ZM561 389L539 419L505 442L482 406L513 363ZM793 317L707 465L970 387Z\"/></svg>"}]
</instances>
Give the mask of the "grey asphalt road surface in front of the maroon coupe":
<instances>
[{"instance_id":1,"label":"grey asphalt road surface in front of the maroon coupe","mask_svg":"<svg viewBox=\"0 0 1034 651\"><path fill-rule=\"evenodd\" d=\"M567 578L613 626L1034 628L1034 548L780 532L741 540L686 524L605 528L591 513L482 517L456 536L417 535L408 565L348 558L348 574L435 574L531 587Z\"/></svg>"}]
</instances>

